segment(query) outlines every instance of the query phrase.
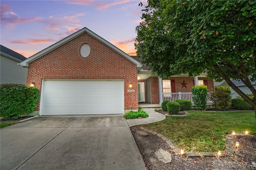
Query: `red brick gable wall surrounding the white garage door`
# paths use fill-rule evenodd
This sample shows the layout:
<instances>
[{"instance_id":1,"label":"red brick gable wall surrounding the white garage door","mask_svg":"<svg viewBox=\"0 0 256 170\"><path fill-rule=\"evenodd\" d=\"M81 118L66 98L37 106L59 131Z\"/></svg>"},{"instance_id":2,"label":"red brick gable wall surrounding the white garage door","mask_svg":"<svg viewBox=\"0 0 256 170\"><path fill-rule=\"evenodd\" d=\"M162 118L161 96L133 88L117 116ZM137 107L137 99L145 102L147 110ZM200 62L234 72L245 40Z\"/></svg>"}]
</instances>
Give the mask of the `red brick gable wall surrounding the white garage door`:
<instances>
[{"instance_id":1,"label":"red brick gable wall surrounding the white garage door","mask_svg":"<svg viewBox=\"0 0 256 170\"><path fill-rule=\"evenodd\" d=\"M90 55L80 54L83 44L90 46ZM121 56L99 40L84 33L48 54L31 62L27 84L35 82L41 90L42 79L123 79L124 109L138 109L136 64ZM130 82L133 87L129 88ZM127 92L134 89L135 92ZM38 101L39 110L40 101Z\"/></svg>"}]
</instances>

